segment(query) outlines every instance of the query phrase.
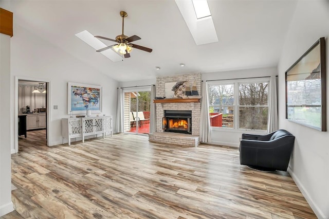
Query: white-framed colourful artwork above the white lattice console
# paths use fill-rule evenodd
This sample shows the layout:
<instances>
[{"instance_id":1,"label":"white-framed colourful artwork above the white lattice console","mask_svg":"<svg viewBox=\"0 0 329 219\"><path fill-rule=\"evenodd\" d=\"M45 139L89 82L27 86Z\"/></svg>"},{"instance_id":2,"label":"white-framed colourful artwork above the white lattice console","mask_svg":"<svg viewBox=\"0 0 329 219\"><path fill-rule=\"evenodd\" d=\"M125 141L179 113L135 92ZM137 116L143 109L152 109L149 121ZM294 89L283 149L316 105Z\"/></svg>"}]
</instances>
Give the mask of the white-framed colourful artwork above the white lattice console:
<instances>
[{"instance_id":1,"label":"white-framed colourful artwork above the white lattice console","mask_svg":"<svg viewBox=\"0 0 329 219\"><path fill-rule=\"evenodd\" d=\"M67 114L102 112L102 87L90 84L67 84Z\"/></svg>"}]
</instances>

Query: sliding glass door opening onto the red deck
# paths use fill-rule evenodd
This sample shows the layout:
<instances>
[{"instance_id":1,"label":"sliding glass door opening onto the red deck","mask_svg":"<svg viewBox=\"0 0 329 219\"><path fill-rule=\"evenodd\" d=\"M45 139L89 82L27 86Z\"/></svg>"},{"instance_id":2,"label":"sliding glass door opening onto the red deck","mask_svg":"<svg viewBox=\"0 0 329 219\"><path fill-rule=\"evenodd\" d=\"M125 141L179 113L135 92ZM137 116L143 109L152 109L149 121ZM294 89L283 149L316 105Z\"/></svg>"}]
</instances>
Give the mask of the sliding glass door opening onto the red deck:
<instances>
[{"instance_id":1,"label":"sliding glass door opening onto the red deck","mask_svg":"<svg viewBox=\"0 0 329 219\"><path fill-rule=\"evenodd\" d=\"M131 134L150 133L150 87L124 89L124 132Z\"/></svg>"}]
</instances>

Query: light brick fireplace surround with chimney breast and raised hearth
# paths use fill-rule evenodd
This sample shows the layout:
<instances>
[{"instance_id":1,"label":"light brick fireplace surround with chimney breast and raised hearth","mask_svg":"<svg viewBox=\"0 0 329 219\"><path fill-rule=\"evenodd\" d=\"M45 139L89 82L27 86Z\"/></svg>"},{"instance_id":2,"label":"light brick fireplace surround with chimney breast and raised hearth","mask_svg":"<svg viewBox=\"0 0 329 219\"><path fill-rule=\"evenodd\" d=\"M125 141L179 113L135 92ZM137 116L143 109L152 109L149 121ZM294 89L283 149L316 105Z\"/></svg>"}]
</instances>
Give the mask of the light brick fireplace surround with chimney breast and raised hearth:
<instances>
[{"instance_id":1,"label":"light brick fireplace surround with chimney breast and raised hearth","mask_svg":"<svg viewBox=\"0 0 329 219\"><path fill-rule=\"evenodd\" d=\"M165 96L165 84L170 82L188 81L190 84L196 82L198 93L201 91L201 74L188 74L188 75L176 75L157 77L156 82L156 97ZM193 97L193 96L192 96ZM188 99L182 99L177 101L171 101L165 99L161 103L156 103L156 132L149 135L149 140L152 142L163 142L169 144L178 144L185 146L196 147L199 143L199 123L201 104L199 101L190 101ZM165 112L168 111L184 111L191 112L191 130L190 133L173 133L167 132L163 129L163 117ZM178 129L182 129L182 126ZM165 132L166 131L166 132Z\"/></svg>"}]
</instances>

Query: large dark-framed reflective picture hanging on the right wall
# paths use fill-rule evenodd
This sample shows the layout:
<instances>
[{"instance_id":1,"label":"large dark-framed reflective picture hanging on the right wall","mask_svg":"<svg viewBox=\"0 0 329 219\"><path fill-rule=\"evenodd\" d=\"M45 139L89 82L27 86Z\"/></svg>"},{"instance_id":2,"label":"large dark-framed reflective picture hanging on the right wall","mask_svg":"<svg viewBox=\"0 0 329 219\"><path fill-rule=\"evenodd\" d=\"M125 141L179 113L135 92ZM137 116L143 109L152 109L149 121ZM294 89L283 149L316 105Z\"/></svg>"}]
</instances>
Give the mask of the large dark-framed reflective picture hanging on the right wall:
<instances>
[{"instance_id":1,"label":"large dark-framed reflective picture hanging on the right wall","mask_svg":"<svg viewBox=\"0 0 329 219\"><path fill-rule=\"evenodd\" d=\"M325 41L320 38L286 72L286 119L326 131Z\"/></svg>"}]
</instances>

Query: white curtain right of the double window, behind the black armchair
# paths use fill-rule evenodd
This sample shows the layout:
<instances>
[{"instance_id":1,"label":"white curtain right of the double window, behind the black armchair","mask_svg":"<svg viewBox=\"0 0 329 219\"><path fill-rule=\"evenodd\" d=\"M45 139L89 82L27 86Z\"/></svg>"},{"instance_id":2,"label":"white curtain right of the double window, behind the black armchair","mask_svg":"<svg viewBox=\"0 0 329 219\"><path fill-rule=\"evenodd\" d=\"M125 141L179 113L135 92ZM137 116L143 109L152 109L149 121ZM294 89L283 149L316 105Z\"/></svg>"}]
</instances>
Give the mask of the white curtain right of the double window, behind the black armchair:
<instances>
[{"instance_id":1,"label":"white curtain right of the double window, behind the black armchair","mask_svg":"<svg viewBox=\"0 0 329 219\"><path fill-rule=\"evenodd\" d=\"M277 77L272 75L269 82L267 133L278 130Z\"/></svg>"}]
</instances>

